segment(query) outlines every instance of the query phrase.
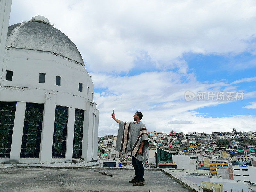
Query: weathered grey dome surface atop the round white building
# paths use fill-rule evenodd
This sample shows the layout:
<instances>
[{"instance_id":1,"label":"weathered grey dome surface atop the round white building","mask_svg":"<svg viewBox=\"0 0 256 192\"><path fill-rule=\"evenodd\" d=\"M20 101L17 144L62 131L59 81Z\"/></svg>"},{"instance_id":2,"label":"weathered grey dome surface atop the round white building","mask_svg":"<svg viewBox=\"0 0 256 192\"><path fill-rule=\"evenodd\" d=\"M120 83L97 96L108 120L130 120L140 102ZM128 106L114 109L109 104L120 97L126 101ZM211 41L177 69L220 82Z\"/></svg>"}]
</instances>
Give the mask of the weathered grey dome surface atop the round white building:
<instances>
[{"instance_id":1,"label":"weathered grey dome surface atop the round white building","mask_svg":"<svg viewBox=\"0 0 256 192\"><path fill-rule=\"evenodd\" d=\"M52 51L84 63L76 45L60 30L44 23L29 21L9 26L6 46Z\"/></svg>"}]
</instances>

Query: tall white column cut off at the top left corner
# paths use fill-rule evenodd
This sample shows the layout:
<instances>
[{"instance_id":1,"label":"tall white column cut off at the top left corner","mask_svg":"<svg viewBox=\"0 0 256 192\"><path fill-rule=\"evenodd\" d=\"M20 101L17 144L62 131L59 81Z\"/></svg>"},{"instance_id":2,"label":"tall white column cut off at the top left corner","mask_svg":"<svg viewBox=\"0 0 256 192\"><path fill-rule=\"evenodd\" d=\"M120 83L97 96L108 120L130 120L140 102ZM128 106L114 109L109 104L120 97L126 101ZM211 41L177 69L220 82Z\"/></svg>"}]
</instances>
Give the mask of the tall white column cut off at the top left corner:
<instances>
[{"instance_id":1,"label":"tall white column cut off at the top left corner","mask_svg":"<svg viewBox=\"0 0 256 192\"><path fill-rule=\"evenodd\" d=\"M12 0L0 0L0 85Z\"/></svg>"}]
</instances>

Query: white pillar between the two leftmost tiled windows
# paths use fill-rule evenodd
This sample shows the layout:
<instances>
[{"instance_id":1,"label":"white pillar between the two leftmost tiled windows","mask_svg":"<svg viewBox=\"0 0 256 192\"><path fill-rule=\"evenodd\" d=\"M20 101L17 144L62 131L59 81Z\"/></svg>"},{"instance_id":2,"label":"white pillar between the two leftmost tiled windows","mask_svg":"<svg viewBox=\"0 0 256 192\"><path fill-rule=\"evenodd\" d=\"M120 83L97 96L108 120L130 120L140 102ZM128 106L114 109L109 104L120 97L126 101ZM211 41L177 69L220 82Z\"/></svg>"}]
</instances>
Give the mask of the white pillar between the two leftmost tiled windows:
<instances>
[{"instance_id":1,"label":"white pillar between the two leftmost tiled windows","mask_svg":"<svg viewBox=\"0 0 256 192\"><path fill-rule=\"evenodd\" d=\"M9 163L19 163L26 102L17 102L12 132L12 145Z\"/></svg>"}]
</instances>

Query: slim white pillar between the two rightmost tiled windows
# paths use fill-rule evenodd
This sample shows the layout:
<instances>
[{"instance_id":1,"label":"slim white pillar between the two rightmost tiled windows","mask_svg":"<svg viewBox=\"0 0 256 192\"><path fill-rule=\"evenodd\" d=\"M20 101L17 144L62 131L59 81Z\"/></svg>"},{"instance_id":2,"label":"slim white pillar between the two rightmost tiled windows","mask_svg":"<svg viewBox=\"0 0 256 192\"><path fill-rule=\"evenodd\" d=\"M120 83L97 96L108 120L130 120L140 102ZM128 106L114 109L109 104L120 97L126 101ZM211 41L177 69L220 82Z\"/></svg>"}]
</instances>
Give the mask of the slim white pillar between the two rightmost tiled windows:
<instances>
[{"instance_id":1,"label":"slim white pillar between the two rightmost tiled windows","mask_svg":"<svg viewBox=\"0 0 256 192\"><path fill-rule=\"evenodd\" d=\"M68 108L68 127L66 141L66 163L72 162L73 158L73 141L74 141L74 126L75 126L75 108Z\"/></svg>"}]
</instances>

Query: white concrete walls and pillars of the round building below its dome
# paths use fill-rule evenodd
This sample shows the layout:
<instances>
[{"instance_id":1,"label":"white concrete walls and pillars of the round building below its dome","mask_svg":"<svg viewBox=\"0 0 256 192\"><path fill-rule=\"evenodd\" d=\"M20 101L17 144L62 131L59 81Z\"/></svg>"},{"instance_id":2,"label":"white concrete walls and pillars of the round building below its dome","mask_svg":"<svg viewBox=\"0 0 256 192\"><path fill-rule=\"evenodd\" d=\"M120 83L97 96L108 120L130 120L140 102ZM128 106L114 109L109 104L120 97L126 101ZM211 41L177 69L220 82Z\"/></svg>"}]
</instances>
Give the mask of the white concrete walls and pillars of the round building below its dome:
<instances>
[{"instance_id":1,"label":"white concrete walls and pillars of the round building below its dome","mask_svg":"<svg viewBox=\"0 0 256 192\"><path fill-rule=\"evenodd\" d=\"M1 4L2 2L4 1L1 0ZM2 17L2 12L0 15L1 20L7 19L7 17ZM40 23L40 25L46 24ZM29 43L36 44L37 42ZM32 48L7 46L3 55L4 65L0 65L0 102L16 102L16 112L10 158L0 158L0 163L68 163L75 161L77 158L73 158L72 154L76 109L84 111L81 159L86 162L96 160L99 111L96 109L96 103L93 102L94 84L84 68L84 63L66 58L65 55L55 54L51 50L43 51ZM12 80L6 80L6 71L13 71ZM45 74L45 83L39 83L40 73ZM61 77L60 86L56 85L56 76ZM79 83L83 84L82 92L78 90ZM20 158L26 103L44 104L38 159ZM56 106L68 108L65 158L52 158Z\"/></svg>"}]
</instances>

